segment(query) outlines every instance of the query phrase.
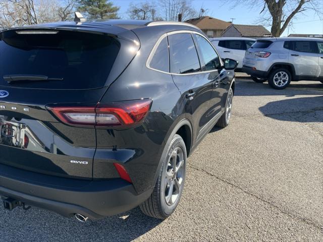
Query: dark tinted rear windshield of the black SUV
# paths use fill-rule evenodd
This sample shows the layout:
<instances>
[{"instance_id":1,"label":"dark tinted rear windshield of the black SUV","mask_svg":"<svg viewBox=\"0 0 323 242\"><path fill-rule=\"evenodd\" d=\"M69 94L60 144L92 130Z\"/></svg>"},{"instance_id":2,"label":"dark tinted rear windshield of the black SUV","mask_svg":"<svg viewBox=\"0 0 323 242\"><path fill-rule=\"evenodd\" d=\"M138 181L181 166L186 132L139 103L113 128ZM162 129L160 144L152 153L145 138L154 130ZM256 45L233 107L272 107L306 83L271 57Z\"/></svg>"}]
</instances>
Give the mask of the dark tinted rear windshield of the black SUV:
<instances>
[{"instance_id":1,"label":"dark tinted rear windshield of the black SUV","mask_svg":"<svg viewBox=\"0 0 323 242\"><path fill-rule=\"evenodd\" d=\"M2 33L1 86L41 89L92 89L104 86L120 50L118 40L94 33L37 31L11 30ZM49 80L8 83L8 79L4 79L4 76L13 75L40 75Z\"/></svg>"}]
</instances>

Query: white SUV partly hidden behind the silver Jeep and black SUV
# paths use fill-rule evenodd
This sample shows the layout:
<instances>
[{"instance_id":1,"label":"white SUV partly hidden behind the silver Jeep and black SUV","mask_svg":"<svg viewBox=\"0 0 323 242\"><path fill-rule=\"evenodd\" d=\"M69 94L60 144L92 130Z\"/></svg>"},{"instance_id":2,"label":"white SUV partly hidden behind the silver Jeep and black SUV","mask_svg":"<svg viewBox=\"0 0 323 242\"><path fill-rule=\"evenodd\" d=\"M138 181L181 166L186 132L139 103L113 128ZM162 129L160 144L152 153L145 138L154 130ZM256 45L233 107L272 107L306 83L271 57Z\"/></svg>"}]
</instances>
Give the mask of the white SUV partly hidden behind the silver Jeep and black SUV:
<instances>
[{"instance_id":1,"label":"white SUV partly hidden behind the silver Jeep and black SUV","mask_svg":"<svg viewBox=\"0 0 323 242\"><path fill-rule=\"evenodd\" d=\"M250 38L210 38L211 43L218 50L221 58L231 58L238 62L236 72L242 70L242 59L256 40Z\"/></svg>"}]
</instances>

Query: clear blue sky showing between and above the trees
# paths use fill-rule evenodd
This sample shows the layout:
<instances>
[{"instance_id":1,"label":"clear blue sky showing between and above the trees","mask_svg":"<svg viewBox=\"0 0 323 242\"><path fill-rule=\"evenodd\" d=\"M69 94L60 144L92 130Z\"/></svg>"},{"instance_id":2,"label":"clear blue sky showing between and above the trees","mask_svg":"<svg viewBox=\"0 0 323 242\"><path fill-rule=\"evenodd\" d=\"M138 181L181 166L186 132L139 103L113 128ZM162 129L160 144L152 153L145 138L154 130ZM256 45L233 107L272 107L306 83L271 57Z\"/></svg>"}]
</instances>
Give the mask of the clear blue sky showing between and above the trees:
<instances>
[{"instance_id":1,"label":"clear blue sky showing between and above the trees","mask_svg":"<svg viewBox=\"0 0 323 242\"><path fill-rule=\"evenodd\" d=\"M255 0L256 1L256 0ZM120 16L124 19L129 18L127 10L131 3L145 2L141 0L113 0L115 5L119 6ZM149 1L150 2L150 1ZM157 2L157 1L156 1ZM229 1L228 1L229 2ZM232 5L226 5L223 1L217 0L193 0L192 5L195 9L200 9L202 6L204 9L208 9L207 15L221 19L224 21L231 21L230 18L235 18L236 24L257 24L259 19L260 9L250 9L248 6L239 5L239 7L232 8ZM323 0L321 1L321 9L323 11ZM314 11L306 11L304 14L296 15L293 26L289 29L289 33L298 34L323 34L323 21L319 20L319 17L314 14ZM270 30L270 27L267 27ZM286 30L282 36L287 36L288 30Z\"/></svg>"}]
</instances>

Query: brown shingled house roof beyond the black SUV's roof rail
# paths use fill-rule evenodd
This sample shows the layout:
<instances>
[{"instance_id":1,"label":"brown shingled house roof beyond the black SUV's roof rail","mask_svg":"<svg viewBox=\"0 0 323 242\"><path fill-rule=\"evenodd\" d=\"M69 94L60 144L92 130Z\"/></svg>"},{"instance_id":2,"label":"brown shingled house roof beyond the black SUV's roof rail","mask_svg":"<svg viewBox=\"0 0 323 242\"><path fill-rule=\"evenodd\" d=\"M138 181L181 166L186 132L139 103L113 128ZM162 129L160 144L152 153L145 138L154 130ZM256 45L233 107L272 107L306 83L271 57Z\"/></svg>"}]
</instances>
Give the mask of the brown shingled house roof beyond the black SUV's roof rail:
<instances>
[{"instance_id":1,"label":"brown shingled house roof beyond the black SUV's roof rail","mask_svg":"<svg viewBox=\"0 0 323 242\"><path fill-rule=\"evenodd\" d=\"M223 29L225 30L231 25L231 22L226 22L220 19L204 16L195 19L186 20L185 23L195 25L200 29Z\"/></svg>"}]
</instances>

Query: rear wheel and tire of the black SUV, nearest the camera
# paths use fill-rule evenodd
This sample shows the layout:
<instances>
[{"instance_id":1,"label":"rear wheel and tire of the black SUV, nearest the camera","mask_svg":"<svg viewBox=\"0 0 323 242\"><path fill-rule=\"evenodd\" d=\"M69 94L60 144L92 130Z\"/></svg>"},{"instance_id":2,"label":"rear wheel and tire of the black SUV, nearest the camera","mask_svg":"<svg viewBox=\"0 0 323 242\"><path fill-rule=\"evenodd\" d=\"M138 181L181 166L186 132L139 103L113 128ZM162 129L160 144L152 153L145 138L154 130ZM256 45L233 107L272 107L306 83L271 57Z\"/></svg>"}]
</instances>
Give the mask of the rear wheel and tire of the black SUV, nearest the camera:
<instances>
[{"instance_id":1,"label":"rear wheel and tire of the black SUV, nearest the camera","mask_svg":"<svg viewBox=\"0 0 323 242\"><path fill-rule=\"evenodd\" d=\"M184 140L176 134L167 148L167 156L161 165L151 196L139 205L144 214L166 219L175 211L184 189L186 163Z\"/></svg>"}]
</instances>

